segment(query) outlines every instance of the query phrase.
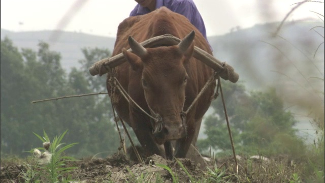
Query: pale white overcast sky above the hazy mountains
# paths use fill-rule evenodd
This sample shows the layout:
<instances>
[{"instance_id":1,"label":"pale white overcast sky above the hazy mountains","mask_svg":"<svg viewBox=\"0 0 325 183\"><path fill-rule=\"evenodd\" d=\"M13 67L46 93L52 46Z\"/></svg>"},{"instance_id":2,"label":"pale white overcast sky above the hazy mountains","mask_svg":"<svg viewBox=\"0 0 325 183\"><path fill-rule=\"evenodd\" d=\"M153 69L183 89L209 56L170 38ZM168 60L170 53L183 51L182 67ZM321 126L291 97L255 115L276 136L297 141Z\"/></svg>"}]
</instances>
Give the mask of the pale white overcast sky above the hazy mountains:
<instances>
[{"instance_id":1,"label":"pale white overcast sky above the hazy mountains","mask_svg":"<svg viewBox=\"0 0 325 183\"><path fill-rule=\"evenodd\" d=\"M236 26L281 21L302 2L297 0L193 0L207 35L222 35ZM319 0L323 2L323 0ZM118 24L133 10L134 0L1 0L1 28L9 31L61 29L115 37ZM307 2L288 21L323 15L323 3Z\"/></svg>"}]
</instances>

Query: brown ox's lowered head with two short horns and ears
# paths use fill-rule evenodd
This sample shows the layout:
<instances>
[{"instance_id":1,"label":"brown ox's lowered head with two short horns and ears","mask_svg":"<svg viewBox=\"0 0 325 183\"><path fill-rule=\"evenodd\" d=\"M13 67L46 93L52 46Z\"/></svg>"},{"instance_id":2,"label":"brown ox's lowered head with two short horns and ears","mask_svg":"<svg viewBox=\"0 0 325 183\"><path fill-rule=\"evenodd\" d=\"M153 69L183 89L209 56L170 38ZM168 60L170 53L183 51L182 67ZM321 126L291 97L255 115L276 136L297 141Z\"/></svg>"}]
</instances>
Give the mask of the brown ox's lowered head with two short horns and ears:
<instances>
[{"instance_id":1,"label":"brown ox's lowered head with two short horns and ears","mask_svg":"<svg viewBox=\"0 0 325 183\"><path fill-rule=\"evenodd\" d=\"M128 43L133 53L123 49L131 68L142 73L140 84L151 114L161 117L160 122L152 123L158 144L186 134L186 124L180 113L190 79L185 68L193 53L194 36L192 31L178 45L156 48L144 48L130 36Z\"/></svg>"}]
</instances>

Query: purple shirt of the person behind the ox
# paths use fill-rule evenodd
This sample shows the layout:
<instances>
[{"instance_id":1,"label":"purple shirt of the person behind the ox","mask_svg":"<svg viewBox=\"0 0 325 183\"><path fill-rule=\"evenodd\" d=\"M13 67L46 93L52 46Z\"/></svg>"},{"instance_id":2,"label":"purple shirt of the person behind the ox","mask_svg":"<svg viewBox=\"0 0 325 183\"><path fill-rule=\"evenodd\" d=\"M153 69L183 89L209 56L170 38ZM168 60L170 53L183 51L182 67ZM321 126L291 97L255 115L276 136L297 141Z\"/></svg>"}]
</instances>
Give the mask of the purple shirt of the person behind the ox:
<instances>
[{"instance_id":1,"label":"purple shirt of the person behind the ox","mask_svg":"<svg viewBox=\"0 0 325 183\"><path fill-rule=\"evenodd\" d=\"M175 13L184 15L194 26L199 29L201 34L208 41L203 19L192 0L156 0L156 9L162 6L165 6ZM150 13L150 10L138 4L134 10L132 10L130 16L144 15L147 13Z\"/></svg>"}]
</instances>

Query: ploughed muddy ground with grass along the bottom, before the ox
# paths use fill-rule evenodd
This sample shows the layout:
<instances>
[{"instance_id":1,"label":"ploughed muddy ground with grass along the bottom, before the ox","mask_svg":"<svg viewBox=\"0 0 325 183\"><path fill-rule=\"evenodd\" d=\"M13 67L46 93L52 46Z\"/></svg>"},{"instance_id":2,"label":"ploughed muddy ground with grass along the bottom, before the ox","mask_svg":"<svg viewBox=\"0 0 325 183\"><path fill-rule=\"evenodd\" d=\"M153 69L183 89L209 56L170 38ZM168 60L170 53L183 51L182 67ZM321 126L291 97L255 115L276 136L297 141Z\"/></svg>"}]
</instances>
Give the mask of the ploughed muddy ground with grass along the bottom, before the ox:
<instances>
[{"instance_id":1,"label":"ploughed muddy ground with grass along the bottom, before the ox","mask_svg":"<svg viewBox=\"0 0 325 183\"><path fill-rule=\"evenodd\" d=\"M290 161L287 157L273 159L261 159L258 156L253 159L238 157L238 173L236 173L235 161L232 157L213 161L215 164L207 160L206 167L186 158L178 159L180 163L176 160L166 160L157 155L145 158L144 163L135 162L134 158L132 154L126 156L116 153L105 159L90 157L70 162L69 167L77 167L69 173L75 180L71 182L160 183L173 182L173 179L174 182L318 182L304 181L301 177L293 177L295 174L302 175L301 168L303 166L299 162ZM25 181L23 173L30 170L30 166L26 161L20 162L24 163L2 160L0 182L35 182L34 180ZM164 168L161 165L166 166ZM49 182L49 180L43 179L41 178L41 182Z\"/></svg>"}]
</instances>

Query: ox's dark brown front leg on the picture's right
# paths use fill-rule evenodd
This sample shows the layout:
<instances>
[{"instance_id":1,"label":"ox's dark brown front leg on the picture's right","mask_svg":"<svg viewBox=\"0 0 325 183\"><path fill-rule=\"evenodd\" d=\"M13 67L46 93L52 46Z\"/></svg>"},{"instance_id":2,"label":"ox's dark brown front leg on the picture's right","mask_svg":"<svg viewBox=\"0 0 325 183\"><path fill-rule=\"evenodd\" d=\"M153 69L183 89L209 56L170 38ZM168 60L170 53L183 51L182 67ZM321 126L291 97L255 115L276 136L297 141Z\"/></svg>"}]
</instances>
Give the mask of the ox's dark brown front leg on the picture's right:
<instances>
[{"instance_id":1,"label":"ox's dark brown front leg on the picture's right","mask_svg":"<svg viewBox=\"0 0 325 183\"><path fill-rule=\"evenodd\" d=\"M176 140L175 152L174 152L175 158L185 158L189 146L192 142L192 139L196 134L195 130L196 129L194 128L194 126L188 126L187 135L184 138Z\"/></svg>"}]
</instances>

